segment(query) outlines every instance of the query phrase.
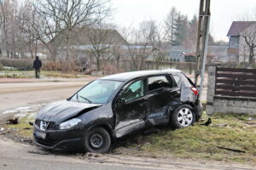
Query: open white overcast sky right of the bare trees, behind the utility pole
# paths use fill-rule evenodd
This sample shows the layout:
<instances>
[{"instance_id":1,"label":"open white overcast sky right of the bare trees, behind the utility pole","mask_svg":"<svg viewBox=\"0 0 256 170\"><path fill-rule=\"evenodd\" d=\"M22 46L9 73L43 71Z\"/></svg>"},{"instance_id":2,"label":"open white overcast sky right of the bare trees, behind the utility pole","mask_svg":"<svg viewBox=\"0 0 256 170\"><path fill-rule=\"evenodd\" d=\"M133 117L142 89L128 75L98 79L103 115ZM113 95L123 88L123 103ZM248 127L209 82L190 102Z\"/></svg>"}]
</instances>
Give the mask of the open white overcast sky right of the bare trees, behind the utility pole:
<instances>
[{"instance_id":1,"label":"open white overcast sky right of the bare trees, behind the utility pole","mask_svg":"<svg viewBox=\"0 0 256 170\"><path fill-rule=\"evenodd\" d=\"M112 4L116 24L137 26L143 20L165 20L172 6L191 19L199 13L200 0L112 0ZM212 0L212 36L215 40L228 41L226 35L232 21L253 10L256 10L256 0Z\"/></svg>"}]
</instances>

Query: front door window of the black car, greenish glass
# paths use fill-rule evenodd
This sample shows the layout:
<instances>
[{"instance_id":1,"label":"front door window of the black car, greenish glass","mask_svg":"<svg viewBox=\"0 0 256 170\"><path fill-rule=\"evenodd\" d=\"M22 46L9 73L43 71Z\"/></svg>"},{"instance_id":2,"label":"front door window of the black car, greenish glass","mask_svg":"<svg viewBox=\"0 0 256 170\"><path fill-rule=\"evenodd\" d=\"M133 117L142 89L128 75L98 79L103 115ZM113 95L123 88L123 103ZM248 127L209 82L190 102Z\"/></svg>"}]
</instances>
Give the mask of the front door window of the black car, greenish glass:
<instances>
[{"instance_id":1,"label":"front door window of the black car, greenish glass","mask_svg":"<svg viewBox=\"0 0 256 170\"><path fill-rule=\"evenodd\" d=\"M131 83L124 91L120 94L120 99L127 101L131 101L137 98L140 98L144 95L144 81L139 80L137 82Z\"/></svg>"}]
</instances>

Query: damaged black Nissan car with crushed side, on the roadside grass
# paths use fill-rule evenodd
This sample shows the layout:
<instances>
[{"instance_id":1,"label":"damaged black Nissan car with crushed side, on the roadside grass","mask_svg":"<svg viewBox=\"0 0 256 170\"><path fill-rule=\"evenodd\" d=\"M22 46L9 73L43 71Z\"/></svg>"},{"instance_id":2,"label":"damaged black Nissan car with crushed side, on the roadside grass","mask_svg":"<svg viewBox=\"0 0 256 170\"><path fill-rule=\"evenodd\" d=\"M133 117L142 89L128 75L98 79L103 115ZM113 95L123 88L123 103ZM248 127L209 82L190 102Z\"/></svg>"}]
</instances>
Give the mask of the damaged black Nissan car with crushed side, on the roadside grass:
<instances>
[{"instance_id":1,"label":"damaged black Nissan car with crushed side, on the roadside grass","mask_svg":"<svg viewBox=\"0 0 256 170\"><path fill-rule=\"evenodd\" d=\"M44 106L33 134L46 149L104 153L114 139L158 125L188 127L201 112L195 84L182 71L132 71L99 78Z\"/></svg>"}]
</instances>

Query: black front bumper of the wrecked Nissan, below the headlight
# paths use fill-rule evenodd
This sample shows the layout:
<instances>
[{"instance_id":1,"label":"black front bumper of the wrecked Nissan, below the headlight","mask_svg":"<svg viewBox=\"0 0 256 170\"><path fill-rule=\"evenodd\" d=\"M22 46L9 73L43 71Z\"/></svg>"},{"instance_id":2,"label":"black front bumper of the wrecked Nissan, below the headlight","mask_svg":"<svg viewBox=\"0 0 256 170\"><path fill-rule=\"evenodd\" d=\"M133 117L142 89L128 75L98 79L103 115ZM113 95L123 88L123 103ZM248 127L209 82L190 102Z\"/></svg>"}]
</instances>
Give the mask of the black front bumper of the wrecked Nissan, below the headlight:
<instances>
[{"instance_id":1,"label":"black front bumper of the wrecked Nissan, below the headlight","mask_svg":"<svg viewBox=\"0 0 256 170\"><path fill-rule=\"evenodd\" d=\"M40 130L34 126L35 144L49 150L81 150L83 149L83 131L67 130Z\"/></svg>"}]
</instances>

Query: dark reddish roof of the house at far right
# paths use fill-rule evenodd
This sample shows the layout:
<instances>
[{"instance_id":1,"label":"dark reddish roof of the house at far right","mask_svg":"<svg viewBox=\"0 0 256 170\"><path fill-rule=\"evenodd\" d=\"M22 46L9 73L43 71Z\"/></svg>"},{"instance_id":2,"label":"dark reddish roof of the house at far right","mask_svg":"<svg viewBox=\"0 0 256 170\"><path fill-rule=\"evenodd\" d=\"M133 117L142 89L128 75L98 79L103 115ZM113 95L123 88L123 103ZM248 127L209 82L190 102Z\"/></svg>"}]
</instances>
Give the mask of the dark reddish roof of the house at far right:
<instances>
[{"instance_id":1,"label":"dark reddish roof of the house at far right","mask_svg":"<svg viewBox=\"0 0 256 170\"><path fill-rule=\"evenodd\" d=\"M240 36L241 31L253 24L256 24L256 21L233 21L227 36Z\"/></svg>"}]
</instances>

